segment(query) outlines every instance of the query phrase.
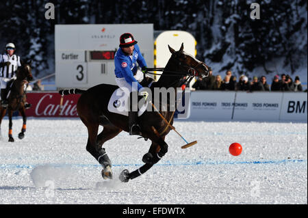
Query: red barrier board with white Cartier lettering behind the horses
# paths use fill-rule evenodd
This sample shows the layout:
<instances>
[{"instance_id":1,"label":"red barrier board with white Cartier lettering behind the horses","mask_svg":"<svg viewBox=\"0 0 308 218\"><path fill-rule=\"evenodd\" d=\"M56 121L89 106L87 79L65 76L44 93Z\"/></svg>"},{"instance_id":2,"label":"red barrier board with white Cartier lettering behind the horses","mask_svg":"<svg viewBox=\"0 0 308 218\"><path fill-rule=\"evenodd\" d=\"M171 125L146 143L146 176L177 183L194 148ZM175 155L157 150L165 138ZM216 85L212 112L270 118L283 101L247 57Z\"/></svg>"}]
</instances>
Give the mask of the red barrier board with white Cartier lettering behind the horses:
<instances>
[{"instance_id":1,"label":"red barrier board with white Cartier lettering behind the horses","mask_svg":"<svg viewBox=\"0 0 308 218\"><path fill-rule=\"evenodd\" d=\"M61 95L55 92L27 93L27 102L32 107L26 110L28 117L64 117L76 118L79 94L64 96L63 108L60 113Z\"/></svg>"}]
</instances>

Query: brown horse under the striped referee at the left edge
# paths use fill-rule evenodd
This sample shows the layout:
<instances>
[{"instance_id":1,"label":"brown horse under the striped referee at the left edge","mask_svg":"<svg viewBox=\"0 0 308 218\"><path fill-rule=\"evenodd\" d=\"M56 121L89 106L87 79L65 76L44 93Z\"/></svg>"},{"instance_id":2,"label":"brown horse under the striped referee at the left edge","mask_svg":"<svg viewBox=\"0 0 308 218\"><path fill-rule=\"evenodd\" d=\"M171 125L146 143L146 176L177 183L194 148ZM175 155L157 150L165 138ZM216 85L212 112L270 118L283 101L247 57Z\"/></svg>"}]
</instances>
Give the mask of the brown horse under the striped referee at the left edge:
<instances>
[{"instance_id":1,"label":"brown horse under the striped referee at the left edge","mask_svg":"<svg viewBox=\"0 0 308 218\"><path fill-rule=\"evenodd\" d=\"M8 110L9 117L9 140L14 142L14 138L12 136L12 115L14 111L19 111L19 113L23 116L23 127L21 128L21 133L18 134L19 139L23 139L25 137L27 117L25 115L25 103L27 101L25 94L25 84L33 79L31 74L31 62L22 63L20 67L18 67L16 71L16 79L12 80L8 83L8 87L10 87L9 96L8 96L8 108L3 108L0 105L0 131L1 131L1 122L3 117L5 116L6 111ZM1 134L1 132L0 132Z\"/></svg>"}]
</instances>

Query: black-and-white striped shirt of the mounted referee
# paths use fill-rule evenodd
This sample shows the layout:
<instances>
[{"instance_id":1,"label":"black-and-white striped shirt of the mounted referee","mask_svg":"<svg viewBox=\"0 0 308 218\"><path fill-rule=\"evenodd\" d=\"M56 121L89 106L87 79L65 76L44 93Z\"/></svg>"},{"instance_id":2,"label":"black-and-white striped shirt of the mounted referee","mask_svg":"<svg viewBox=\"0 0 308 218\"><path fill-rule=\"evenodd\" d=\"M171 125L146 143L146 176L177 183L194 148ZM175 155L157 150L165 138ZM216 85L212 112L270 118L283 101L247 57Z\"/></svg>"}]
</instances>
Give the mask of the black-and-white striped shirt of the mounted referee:
<instances>
[{"instance_id":1,"label":"black-and-white striped shirt of the mounted referee","mask_svg":"<svg viewBox=\"0 0 308 218\"><path fill-rule=\"evenodd\" d=\"M3 66L2 64L5 62L10 62L11 64L9 66ZM21 58L18 55L0 55L0 77L10 79L16 76L16 70L18 66L21 66Z\"/></svg>"}]
</instances>

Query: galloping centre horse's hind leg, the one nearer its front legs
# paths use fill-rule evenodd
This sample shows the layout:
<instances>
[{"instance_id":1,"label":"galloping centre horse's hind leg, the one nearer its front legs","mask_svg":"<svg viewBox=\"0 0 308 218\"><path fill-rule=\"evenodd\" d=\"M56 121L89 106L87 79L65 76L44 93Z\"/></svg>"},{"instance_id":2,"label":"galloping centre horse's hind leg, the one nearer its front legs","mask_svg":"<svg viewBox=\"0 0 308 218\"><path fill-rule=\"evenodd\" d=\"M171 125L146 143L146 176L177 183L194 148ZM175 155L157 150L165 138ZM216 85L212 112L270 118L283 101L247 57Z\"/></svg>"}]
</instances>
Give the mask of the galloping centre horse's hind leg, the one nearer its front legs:
<instances>
[{"instance_id":1,"label":"galloping centre horse's hind leg, the one nearer its front legs","mask_svg":"<svg viewBox=\"0 0 308 218\"><path fill-rule=\"evenodd\" d=\"M116 137L118 133L120 133L122 129L113 126L113 125L106 125L103 127L103 131L97 136L97 150L99 150L99 158L97 161L102 165L103 169L101 171L101 175L103 178L112 178L112 163L105 152L105 148L102 148L103 144Z\"/></svg>"}]
</instances>

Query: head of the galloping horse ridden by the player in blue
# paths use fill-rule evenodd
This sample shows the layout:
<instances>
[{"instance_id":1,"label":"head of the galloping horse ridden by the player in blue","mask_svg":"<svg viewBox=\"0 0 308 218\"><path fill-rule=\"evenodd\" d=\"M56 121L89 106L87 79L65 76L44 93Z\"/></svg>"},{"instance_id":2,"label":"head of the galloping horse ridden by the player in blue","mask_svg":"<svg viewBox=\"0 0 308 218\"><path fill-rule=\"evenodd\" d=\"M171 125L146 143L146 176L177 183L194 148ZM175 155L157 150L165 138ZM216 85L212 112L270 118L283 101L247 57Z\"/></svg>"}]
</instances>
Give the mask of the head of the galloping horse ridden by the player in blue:
<instances>
[{"instance_id":1,"label":"head of the galloping horse ridden by the player in blue","mask_svg":"<svg viewBox=\"0 0 308 218\"><path fill-rule=\"evenodd\" d=\"M175 49L172 49L169 45L168 47L170 53L172 53L171 59L174 59L176 62L178 62L178 65L182 69L181 71L185 73L183 76L187 74L192 77L195 76L202 78L209 76L209 67L205 63L196 59L194 56L185 53L185 51L183 51L183 43L181 44L179 51L175 51Z\"/></svg>"}]
</instances>

